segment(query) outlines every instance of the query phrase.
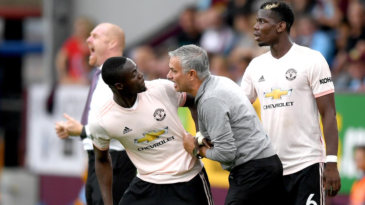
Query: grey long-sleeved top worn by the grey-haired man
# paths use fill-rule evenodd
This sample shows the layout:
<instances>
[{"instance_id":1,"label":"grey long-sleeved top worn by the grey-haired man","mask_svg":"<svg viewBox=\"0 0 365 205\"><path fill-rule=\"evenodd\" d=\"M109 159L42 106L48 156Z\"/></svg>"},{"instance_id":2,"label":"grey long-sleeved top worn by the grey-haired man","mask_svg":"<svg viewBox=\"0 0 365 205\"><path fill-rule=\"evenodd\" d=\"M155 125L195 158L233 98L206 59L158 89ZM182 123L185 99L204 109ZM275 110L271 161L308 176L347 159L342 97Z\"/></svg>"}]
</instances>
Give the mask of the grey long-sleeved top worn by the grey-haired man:
<instances>
[{"instance_id":1,"label":"grey long-sleeved top worn by the grey-haired man","mask_svg":"<svg viewBox=\"0 0 365 205\"><path fill-rule=\"evenodd\" d=\"M200 133L214 144L205 155L224 170L276 154L251 102L229 78L205 78L195 105Z\"/></svg>"}]
</instances>

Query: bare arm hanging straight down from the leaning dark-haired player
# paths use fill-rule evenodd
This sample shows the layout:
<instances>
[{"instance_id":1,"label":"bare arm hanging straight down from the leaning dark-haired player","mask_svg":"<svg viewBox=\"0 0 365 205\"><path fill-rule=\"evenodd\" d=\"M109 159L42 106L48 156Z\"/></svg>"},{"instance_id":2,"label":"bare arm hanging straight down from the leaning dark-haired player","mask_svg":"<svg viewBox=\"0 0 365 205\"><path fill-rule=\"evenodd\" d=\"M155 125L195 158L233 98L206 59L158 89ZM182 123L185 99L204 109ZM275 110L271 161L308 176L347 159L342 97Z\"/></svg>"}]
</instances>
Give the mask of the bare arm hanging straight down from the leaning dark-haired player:
<instances>
[{"instance_id":1,"label":"bare arm hanging straight down from the leaning dark-haired player","mask_svg":"<svg viewBox=\"0 0 365 205\"><path fill-rule=\"evenodd\" d=\"M101 191L101 196L105 205L113 204L112 196L112 181L113 181L113 167L112 159L109 154L109 148L107 150L99 150L95 147L95 172L97 181Z\"/></svg>"}]
</instances>

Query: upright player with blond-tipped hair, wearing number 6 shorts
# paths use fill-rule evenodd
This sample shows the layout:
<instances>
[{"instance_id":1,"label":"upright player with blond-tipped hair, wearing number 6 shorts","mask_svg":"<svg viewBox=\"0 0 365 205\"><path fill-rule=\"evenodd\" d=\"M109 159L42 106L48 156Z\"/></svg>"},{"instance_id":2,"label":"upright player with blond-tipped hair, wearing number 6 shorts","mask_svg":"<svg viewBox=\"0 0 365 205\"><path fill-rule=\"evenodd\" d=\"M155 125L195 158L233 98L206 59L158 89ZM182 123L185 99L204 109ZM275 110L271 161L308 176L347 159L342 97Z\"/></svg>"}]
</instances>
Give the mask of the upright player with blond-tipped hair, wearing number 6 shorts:
<instances>
[{"instance_id":1,"label":"upright player with blond-tipped hair, wearing number 6 shorts","mask_svg":"<svg viewBox=\"0 0 365 205\"><path fill-rule=\"evenodd\" d=\"M262 124L283 163L282 204L322 205L325 190L334 197L341 188L334 86L323 55L291 41L294 18L284 1L261 5L253 35L270 51L250 62L241 88L252 103L259 98Z\"/></svg>"}]
</instances>

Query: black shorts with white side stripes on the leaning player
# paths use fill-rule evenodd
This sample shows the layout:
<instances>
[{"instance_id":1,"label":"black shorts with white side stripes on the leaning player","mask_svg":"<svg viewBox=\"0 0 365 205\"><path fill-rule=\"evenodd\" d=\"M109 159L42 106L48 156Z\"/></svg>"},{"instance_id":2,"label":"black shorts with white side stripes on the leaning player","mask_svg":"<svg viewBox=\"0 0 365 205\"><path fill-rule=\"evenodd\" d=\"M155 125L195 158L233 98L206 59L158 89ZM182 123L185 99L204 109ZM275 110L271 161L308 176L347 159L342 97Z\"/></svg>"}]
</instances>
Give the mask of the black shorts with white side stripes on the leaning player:
<instances>
[{"instance_id":1,"label":"black shorts with white side stripes on the leaning player","mask_svg":"<svg viewBox=\"0 0 365 205\"><path fill-rule=\"evenodd\" d=\"M155 184L134 178L119 205L214 205L203 169L188 182Z\"/></svg>"}]
</instances>

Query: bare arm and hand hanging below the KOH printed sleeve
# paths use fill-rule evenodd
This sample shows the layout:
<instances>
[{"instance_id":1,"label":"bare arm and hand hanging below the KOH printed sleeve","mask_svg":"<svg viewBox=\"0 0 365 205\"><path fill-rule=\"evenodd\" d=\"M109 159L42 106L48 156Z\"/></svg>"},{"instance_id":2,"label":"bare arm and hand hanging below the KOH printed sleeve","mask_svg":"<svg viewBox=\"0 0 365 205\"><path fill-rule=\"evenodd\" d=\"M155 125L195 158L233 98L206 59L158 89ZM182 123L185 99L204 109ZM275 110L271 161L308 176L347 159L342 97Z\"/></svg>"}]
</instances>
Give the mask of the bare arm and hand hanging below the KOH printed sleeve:
<instances>
[{"instance_id":1,"label":"bare arm and hand hanging below the KOH printed sleeve","mask_svg":"<svg viewBox=\"0 0 365 205\"><path fill-rule=\"evenodd\" d=\"M336 120L334 93L316 98L317 107L322 116L323 134L326 140L326 155L337 156L338 129ZM341 178L336 162L327 162L323 172L323 185L329 197L334 197L341 189Z\"/></svg>"}]
</instances>

